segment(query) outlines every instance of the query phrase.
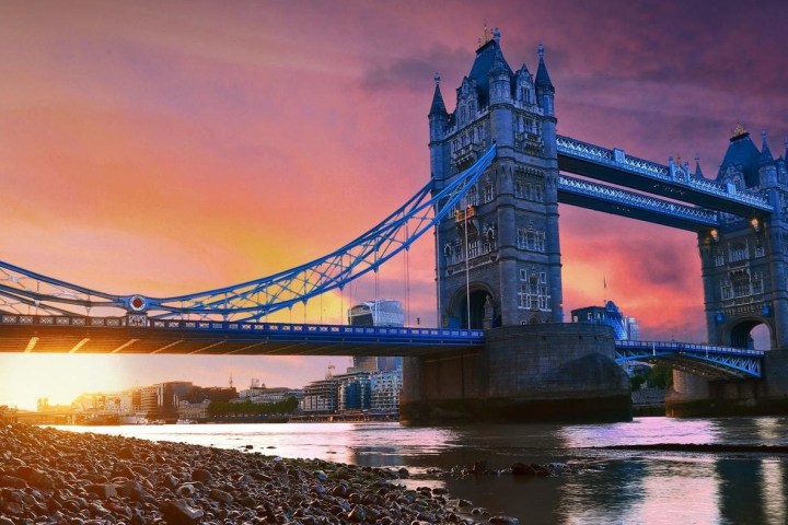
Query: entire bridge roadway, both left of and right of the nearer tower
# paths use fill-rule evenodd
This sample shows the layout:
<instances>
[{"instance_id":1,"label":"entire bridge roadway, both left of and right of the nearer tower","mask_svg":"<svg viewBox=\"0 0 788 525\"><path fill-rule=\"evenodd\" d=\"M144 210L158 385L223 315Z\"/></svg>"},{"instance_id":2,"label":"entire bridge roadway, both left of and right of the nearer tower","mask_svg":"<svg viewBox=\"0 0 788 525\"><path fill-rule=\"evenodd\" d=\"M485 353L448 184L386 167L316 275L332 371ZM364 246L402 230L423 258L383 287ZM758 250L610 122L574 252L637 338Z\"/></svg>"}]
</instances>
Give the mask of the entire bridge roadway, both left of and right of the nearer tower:
<instances>
[{"instance_id":1,"label":"entire bridge roadway, both left of and right of the nearer tower","mask_svg":"<svg viewBox=\"0 0 788 525\"><path fill-rule=\"evenodd\" d=\"M484 330L0 315L0 352L414 357L484 348ZM761 377L764 352L676 341L616 341L615 359L663 361L711 378Z\"/></svg>"}]
</instances>

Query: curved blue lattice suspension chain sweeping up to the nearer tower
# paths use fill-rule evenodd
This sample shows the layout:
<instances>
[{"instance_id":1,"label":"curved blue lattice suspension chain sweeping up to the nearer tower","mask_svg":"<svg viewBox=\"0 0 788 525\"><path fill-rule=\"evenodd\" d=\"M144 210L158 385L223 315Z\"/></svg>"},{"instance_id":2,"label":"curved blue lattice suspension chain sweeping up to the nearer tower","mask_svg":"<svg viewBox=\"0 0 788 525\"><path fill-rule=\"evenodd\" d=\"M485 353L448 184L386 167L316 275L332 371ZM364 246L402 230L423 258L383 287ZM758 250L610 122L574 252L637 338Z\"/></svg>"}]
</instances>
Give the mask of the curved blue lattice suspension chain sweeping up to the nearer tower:
<instances>
[{"instance_id":1,"label":"curved blue lattice suspension chain sweeping up to the nearer tower","mask_svg":"<svg viewBox=\"0 0 788 525\"><path fill-rule=\"evenodd\" d=\"M119 308L154 318L259 319L306 303L406 250L430 231L478 180L496 155L495 144L440 191L432 180L378 225L341 248L311 262L231 287L172 298L114 295L53 279L0 261L0 312L90 315L92 308Z\"/></svg>"}]
</instances>

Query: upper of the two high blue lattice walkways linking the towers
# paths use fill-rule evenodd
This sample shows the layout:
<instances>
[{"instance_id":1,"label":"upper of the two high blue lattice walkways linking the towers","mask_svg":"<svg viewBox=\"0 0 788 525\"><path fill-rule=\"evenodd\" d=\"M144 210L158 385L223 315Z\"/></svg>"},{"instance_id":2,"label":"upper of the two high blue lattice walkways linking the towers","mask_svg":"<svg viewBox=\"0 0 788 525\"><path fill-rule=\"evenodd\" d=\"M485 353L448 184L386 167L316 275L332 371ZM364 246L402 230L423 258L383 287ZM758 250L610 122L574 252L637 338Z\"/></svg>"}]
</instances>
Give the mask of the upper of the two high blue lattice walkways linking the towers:
<instances>
[{"instance_id":1,"label":"upper of the two high blue lattice walkways linking the towers","mask_svg":"<svg viewBox=\"0 0 788 525\"><path fill-rule=\"evenodd\" d=\"M744 205L746 209L756 209L767 213L773 211L768 199L763 195L750 190L739 190L733 186L695 176L683 166L665 166L627 155L622 150L610 150L569 137L556 137L556 145L559 156L581 159L598 165L646 177L653 182L670 184L674 187L684 187L722 199L729 205Z\"/></svg>"}]
</instances>

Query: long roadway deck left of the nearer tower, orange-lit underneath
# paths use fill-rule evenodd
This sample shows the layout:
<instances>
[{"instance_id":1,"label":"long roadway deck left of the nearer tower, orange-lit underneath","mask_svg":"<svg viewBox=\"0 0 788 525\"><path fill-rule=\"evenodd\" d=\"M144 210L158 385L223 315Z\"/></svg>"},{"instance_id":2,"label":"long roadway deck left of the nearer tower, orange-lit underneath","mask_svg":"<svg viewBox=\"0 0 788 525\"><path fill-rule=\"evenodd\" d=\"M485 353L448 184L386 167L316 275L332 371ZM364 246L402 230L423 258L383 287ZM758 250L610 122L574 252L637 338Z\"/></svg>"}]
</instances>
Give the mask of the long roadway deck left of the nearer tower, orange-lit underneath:
<instances>
[{"instance_id":1,"label":"long roadway deck left of the nearer tower, orange-lit underneath","mask_svg":"<svg viewBox=\"0 0 788 525\"><path fill-rule=\"evenodd\" d=\"M483 330L66 315L0 316L0 352L425 355L484 347Z\"/></svg>"}]
</instances>

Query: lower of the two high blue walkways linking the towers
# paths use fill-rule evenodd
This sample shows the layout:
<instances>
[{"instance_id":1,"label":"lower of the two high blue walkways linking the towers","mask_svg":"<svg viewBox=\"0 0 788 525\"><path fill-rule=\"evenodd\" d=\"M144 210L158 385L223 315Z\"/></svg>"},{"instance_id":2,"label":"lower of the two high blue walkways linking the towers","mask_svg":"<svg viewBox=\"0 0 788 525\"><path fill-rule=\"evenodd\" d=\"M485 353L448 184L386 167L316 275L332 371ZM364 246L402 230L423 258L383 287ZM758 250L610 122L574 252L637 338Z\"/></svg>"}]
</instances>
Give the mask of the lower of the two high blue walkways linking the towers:
<instances>
[{"instance_id":1,"label":"lower of the two high blue walkways linking the towers","mask_svg":"<svg viewBox=\"0 0 788 525\"><path fill-rule=\"evenodd\" d=\"M690 231L708 230L719 225L718 213L712 210L685 206L566 175L558 177L558 200Z\"/></svg>"}]
</instances>

